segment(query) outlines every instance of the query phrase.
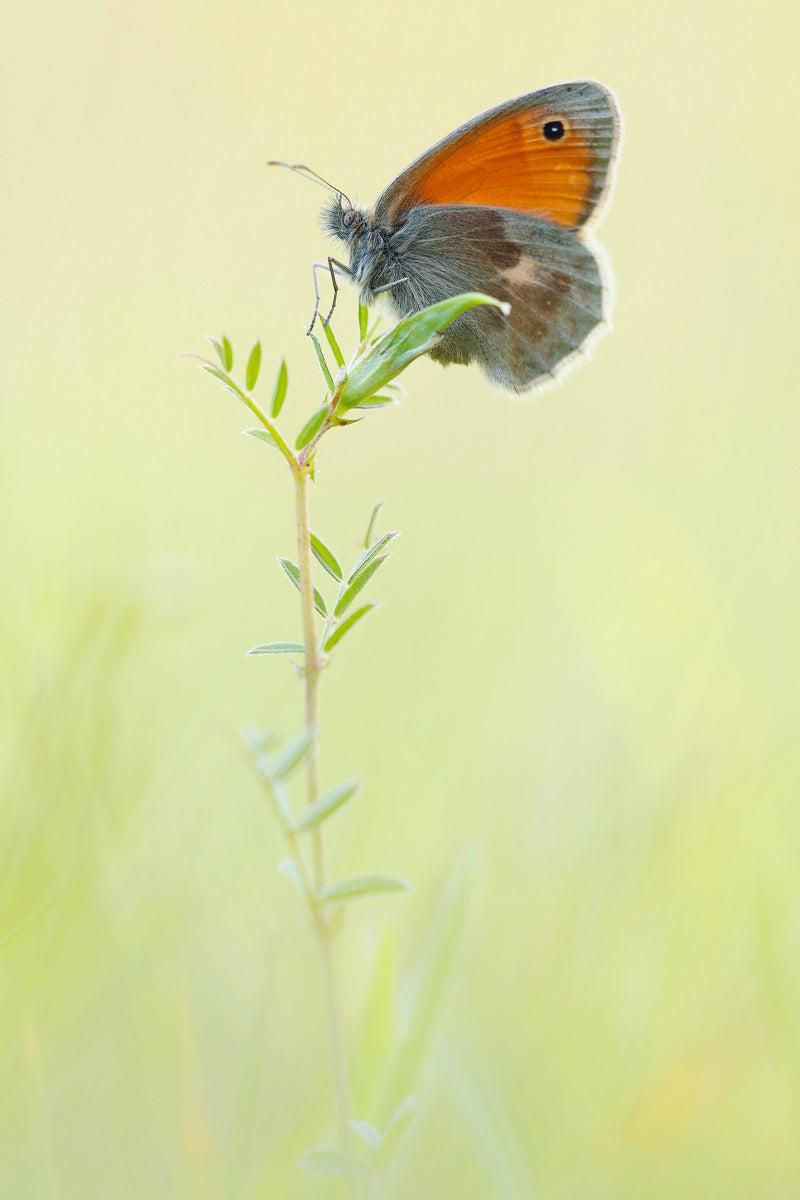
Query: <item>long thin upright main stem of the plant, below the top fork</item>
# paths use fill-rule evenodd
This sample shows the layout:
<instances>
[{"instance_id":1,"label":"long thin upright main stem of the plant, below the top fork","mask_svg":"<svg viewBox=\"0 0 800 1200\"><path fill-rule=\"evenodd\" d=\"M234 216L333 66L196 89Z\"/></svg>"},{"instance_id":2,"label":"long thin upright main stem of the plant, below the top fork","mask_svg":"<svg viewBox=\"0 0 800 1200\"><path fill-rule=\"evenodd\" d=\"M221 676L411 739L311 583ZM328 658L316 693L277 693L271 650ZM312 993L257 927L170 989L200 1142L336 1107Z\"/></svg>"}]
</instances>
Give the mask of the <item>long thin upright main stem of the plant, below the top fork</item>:
<instances>
[{"instance_id":1,"label":"long thin upright main stem of the plant, below the top fork","mask_svg":"<svg viewBox=\"0 0 800 1200\"><path fill-rule=\"evenodd\" d=\"M323 668L321 654L314 625L314 583L311 569L311 526L308 522L308 467L295 463L295 514L297 522L297 566L300 569L300 604L302 608L302 636L306 647L303 685L306 728L314 740L306 760L306 797L313 804L320 794L319 767L319 677ZM333 1090L339 1127L339 1145L347 1162L348 1190L350 1200L360 1200L361 1181L355 1153L350 1112L350 1085L347 1069L347 1049L342 1007L339 1003L336 959L333 954L333 928L330 906L319 899L326 882L325 841L321 826L313 830L314 888L312 904L314 935L319 947L325 995L325 1014L333 1068Z\"/></svg>"}]
</instances>

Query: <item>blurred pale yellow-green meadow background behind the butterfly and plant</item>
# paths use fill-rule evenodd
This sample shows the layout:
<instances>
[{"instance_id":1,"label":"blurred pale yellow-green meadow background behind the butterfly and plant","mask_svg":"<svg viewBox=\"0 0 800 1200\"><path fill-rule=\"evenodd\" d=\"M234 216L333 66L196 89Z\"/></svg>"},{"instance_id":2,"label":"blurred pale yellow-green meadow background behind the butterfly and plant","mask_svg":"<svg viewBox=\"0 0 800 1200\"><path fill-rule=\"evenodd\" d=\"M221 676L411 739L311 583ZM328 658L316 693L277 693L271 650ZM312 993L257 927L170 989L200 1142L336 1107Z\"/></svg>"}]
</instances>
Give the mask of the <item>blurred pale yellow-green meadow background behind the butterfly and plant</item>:
<instances>
[{"instance_id":1,"label":"blurred pale yellow-green meadow background behind the butterfly and plant","mask_svg":"<svg viewBox=\"0 0 800 1200\"><path fill-rule=\"evenodd\" d=\"M299 634L290 484L179 354L260 336L297 428L331 247L321 192L265 161L369 202L583 76L626 119L614 335L524 404L416 364L320 457L337 552L379 498L404 530L324 680L326 781L366 779L335 871L416 883L349 914L348 1033L381 946L402 1032L471 846L386 1195L800 1195L798 26L769 0L7 10L4 1198L338 1194L295 1165L333 1136L317 962L230 737L300 724L285 662L243 658Z\"/></svg>"}]
</instances>

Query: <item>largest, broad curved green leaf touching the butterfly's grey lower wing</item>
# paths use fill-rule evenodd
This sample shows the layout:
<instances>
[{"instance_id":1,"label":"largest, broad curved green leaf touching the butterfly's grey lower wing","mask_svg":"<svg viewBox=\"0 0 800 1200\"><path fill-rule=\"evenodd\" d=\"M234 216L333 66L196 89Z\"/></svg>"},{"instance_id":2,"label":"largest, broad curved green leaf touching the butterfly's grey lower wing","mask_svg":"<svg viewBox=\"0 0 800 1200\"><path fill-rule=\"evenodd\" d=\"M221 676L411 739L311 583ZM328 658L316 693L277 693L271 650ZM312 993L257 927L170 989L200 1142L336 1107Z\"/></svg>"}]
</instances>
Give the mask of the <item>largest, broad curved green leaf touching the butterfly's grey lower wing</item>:
<instances>
[{"instance_id":1,"label":"largest, broad curved green leaf touching the butterfly's grey lower wing","mask_svg":"<svg viewBox=\"0 0 800 1200\"><path fill-rule=\"evenodd\" d=\"M356 359L344 382L338 410L347 412L380 391L409 362L433 349L444 330L457 317L479 305L492 305L504 312L509 306L481 292L465 292L405 317Z\"/></svg>"}]
</instances>

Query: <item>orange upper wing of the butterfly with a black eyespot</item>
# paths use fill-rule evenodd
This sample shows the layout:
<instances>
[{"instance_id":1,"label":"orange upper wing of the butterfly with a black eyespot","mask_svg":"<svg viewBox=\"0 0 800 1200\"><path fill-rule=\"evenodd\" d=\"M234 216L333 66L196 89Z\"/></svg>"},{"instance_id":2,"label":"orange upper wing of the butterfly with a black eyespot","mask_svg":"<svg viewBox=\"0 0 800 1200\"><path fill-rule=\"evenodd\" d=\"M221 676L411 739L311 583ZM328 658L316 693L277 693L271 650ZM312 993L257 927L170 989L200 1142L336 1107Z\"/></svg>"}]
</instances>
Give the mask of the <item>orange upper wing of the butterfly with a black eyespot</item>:
<instances>
[{"instance_id":1,"label":"orange upper wing of the butterfly with a black eyespot","mask_svg":"<svg viewBox=\"0 0 800 1200\"><path fill-rule=\"evenodd\" d=\"M578 229L597 208L619 140L613 94L557 84L475 118L407 167L380 196L379 220L425 204L515 209Z\"/></svg>"}]
</instances>

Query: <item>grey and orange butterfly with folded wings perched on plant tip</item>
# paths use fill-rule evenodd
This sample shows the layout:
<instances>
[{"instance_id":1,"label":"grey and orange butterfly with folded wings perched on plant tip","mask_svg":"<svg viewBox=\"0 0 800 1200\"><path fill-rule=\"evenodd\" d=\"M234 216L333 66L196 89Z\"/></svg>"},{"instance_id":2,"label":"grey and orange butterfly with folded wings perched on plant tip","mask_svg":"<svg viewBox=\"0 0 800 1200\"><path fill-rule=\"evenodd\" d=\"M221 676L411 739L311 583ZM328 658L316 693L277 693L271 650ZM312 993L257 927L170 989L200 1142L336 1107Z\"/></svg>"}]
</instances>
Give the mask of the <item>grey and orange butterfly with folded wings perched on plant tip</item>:
<instances>
[{"instance_id":1,"label":"grey and orange butterfly with folded wings perched on plant tip","mask_svg":"<svg viewBox=\"0 0 800 1200\"><path fill-rule=\"evenodd\" d=\"M613 277L590 238L616 166L621 118L600 83L555 84L462 125L401 172L368 210L337 191L324 228L349 274L399 317L462 292L511 306L473 308L431 356L477 362L495 385L559 379L608 329ZM319 178L319 176L318 176ZM336 281L335 281L336 283Z\"/></svg>"}]
</instances>

